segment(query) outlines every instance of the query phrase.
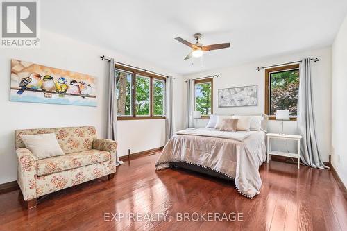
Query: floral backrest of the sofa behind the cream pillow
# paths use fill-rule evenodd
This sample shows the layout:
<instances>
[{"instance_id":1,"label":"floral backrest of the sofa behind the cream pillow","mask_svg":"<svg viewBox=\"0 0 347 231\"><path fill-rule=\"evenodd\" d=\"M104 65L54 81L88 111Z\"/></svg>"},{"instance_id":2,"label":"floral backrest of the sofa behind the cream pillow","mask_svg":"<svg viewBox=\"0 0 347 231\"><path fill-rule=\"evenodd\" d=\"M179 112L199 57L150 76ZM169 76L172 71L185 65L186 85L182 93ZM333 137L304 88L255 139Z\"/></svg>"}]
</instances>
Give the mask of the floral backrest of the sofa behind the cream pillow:
<instances>
[{"instance_id":1,"label":"floral backrest of the sofa behind the cream pillow","mask_svg":"<svg viewBox=\"0 0 347 231\"><path fill-rule=\"evenodd\" d=\"M58 143L65 154L90 150L92 149L93 140L96 139L96 130L92 126L16 130L16 149L26 147L22 141L22 135L46 133L56 134Z\"/></svg>"}]
</instances>

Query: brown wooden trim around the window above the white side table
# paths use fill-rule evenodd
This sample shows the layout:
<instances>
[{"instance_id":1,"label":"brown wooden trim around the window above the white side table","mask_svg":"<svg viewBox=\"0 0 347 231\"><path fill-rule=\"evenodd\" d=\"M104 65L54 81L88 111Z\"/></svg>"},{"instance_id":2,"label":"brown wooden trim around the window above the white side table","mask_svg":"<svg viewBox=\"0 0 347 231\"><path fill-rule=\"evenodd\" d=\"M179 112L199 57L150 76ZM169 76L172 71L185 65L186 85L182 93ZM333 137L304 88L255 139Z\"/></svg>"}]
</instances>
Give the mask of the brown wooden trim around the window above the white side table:
<instances>
[{"instance_id":1,"label":"brown wooden trim around the window above the white side table","mask_svg":"<svg viewBox=\"0 0 347 231\"><path fill-rule=\"evenodd\" d=\"M287 66L281 66L281 67L273 67L269 69L265 69L265 109L264 113L269 115L269 106L270 106L270 76L272 72L280 72L280 71L289 71L291 69L298 69L300 67L299 64L295 65L287 65ZM276 120L276 117L273 115L269 115L269 120ZM290 117L291 121L296 121L295 117Z\"/></svg>"}]
</instances>

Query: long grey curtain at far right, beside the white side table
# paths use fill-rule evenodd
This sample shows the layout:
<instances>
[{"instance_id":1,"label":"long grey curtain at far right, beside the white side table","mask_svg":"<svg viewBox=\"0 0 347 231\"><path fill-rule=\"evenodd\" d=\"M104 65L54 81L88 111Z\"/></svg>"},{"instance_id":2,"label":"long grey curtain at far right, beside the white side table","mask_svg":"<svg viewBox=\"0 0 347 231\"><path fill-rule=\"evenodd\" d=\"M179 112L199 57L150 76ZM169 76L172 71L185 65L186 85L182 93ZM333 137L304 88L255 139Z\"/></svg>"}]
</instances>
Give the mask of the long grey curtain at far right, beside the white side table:
<instances>
[{"instance_id":1,"label":"long grey curtain at far right, beside the white side table","mask_svg":"<svg viewBox=\"0 0 347 231\"><path fill-rule=\"evenodd\" d=\"M324 169L316 138L316 122L312 92L311 59L301 60L298 94L298 131L301 139L301 160L314 168Z\"/></svg>"}]
</instances>

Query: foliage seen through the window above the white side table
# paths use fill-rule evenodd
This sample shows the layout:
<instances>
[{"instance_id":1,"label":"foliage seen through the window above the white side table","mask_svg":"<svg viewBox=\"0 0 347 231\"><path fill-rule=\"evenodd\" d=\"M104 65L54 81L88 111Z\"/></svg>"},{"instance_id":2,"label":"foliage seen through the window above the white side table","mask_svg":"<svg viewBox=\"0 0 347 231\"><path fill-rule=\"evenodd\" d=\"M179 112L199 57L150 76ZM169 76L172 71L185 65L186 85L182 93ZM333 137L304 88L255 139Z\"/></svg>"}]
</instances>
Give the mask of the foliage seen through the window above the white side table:
<instances>
[{"instance_id":1,"label":"foliage seen through the window above the white side table","mask_svg":"<svg viewBox=\"0 0 347 231\"><path fill-rule=\"evenodd\" d=\"M297 114L299 71L282 71L271 74L270 114L276 110L289 110L291 115Z\"/></svg>"}]
</instances>

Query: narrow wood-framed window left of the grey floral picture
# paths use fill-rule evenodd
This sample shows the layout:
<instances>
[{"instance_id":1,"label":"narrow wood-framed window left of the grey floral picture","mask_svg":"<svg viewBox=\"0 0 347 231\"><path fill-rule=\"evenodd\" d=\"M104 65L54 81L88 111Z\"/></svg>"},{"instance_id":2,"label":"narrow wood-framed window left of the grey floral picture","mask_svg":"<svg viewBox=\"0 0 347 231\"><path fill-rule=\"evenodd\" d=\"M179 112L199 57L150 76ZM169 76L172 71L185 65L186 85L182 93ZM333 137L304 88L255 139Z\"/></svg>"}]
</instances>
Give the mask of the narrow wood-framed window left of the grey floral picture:
<instances>
[{"instance_id":1,"label":"narrow wood-framed window left of the grey floral picture","mask_svg":"<svg viewBox=\"0 0 347 231\"><path fill-rule=\"evenodd\" d=\"M213 108L213 78L195 81L195 110L201 112L201 117L208 118Z\"/></svg>"}]
</instances>

